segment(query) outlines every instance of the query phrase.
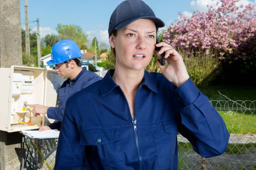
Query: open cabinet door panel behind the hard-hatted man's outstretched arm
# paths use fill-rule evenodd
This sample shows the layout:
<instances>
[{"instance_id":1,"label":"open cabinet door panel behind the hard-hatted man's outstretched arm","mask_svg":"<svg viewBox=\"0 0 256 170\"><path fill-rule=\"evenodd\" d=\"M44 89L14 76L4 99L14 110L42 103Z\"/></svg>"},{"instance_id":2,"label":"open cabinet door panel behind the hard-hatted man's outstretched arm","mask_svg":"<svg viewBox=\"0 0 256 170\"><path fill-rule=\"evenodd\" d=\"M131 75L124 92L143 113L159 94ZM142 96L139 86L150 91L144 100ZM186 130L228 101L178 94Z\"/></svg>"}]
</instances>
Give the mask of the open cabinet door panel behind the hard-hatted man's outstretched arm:
<instances>
[{"instance_id":1,"label":"open cabinet door panel behind the hard-hatted man's outstretched arm","mask_svg":"<svg viewBox=\"0 0 256 170\"><path fill-rule=\"evenodd\" d=\"M49 107L58 107L58 90L65 79L62 79L54 70L46 70L45 89L44 89L44 105ZM54 122L47 115L44 117L44 125L47 126Z\"/></svg>"}]
</instances>

